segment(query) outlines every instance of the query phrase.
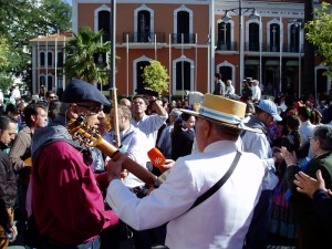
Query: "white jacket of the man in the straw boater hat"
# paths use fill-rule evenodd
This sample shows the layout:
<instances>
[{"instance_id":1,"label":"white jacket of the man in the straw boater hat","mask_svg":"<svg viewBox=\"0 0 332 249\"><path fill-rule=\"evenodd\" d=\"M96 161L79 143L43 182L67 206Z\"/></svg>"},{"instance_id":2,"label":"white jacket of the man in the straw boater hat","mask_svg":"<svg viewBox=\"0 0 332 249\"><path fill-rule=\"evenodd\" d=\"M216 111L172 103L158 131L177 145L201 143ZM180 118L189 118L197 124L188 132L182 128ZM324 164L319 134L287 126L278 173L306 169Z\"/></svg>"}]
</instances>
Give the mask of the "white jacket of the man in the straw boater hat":
<instances>
[{"instance_id":1,"label":"white jacket of the man in the straw boater hat","mask_svg":"<svg viewBox=\"0 0 332 249\"><path fill-rule=\"evenodd\" d=\"M219 141L204 153L177 159L166 181L138 199L121 180L112 180L106 200L115 214L136 230L167 221L166 246L172 249L240 249L261 193L264 169L251 153L241 158L225 185L187 210L228 170L236 155L234 142Z\"/></svg>"}]
</instances>

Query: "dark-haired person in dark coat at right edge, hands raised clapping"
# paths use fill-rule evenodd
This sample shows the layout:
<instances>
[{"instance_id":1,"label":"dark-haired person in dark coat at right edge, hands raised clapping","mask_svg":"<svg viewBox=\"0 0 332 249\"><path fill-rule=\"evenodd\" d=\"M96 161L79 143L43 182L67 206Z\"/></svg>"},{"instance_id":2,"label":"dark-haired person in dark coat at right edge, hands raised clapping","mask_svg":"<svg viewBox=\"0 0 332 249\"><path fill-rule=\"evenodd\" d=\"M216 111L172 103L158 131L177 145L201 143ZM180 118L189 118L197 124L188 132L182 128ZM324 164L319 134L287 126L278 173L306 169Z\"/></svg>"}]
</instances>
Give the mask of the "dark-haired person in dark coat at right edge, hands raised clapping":
<instances>
[{"instance_id":1,"label":"dark-haired person in dark coat at right edge, hands raised clapping","mask_svg":"<svg viewBox=\"0 0 332 249\"><path fill-rule=\"evenodd\" d=\"M287 181L291 190L290 206L298 225L299 248L301 249L330 249L332 232L326 229L314 210L310 197L298 193L294 184L299 172L304 172L315 177L315 172L321 170L326 187L332 187L332 127L330 125L317 126L310 141L314 157L307 165L297 166L297 158L284 147L281 153L287 164Z\"/></svg>"}]
</instances>

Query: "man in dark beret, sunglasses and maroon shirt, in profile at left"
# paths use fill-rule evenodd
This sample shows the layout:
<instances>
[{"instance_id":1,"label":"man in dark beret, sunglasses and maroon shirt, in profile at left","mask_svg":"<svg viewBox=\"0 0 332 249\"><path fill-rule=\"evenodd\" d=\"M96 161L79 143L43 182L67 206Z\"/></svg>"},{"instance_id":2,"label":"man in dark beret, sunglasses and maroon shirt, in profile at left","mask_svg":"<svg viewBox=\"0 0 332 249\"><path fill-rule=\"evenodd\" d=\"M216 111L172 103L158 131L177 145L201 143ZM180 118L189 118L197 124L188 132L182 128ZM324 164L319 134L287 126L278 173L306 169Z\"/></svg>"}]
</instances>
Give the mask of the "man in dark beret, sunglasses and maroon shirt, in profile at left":
<instances>
[{"instance_id":1,"label":"man in dark beret, sunglasses and maroon shirt, in profile at left","mask_svg":"<svg viewBox=\"0 0 332 249\"><path fill-rule=\"evenodd\" d=\"M107 186L105 174L94 175L91 155L80 146L65 125L86 116L97 127L105 117L106 97L93 85L72 80L61 98L60 113L32 139L32 210L41 235L41 248L100 248L101 231L117 224L104 209L100 189Z\"/></svg>"}]
</instances>

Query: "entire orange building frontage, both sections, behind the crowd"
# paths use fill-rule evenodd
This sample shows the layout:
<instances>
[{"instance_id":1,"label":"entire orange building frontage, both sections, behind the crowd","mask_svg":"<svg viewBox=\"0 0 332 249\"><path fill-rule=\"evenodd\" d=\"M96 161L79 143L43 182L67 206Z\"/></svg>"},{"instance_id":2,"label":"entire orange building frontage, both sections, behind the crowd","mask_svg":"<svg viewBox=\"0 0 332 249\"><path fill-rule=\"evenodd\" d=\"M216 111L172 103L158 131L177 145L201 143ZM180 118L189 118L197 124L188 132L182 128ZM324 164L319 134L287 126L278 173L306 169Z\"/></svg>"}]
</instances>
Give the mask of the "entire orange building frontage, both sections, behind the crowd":
<instances>
[{"instance_id":1,"label":"entire orange building frontage, both sections, behind the crowd","mask_svg":"<svg viewBox=\"0 0 332 249\"><path fill-rule=\"evenodd\" d=\"M170 95L214 91L215 72L220 72L224 81L232 80L237 93L247 76L259 80L266 94L303 92L303 1L114 1L120 95L133 95L143 86L143 69L152 60L167 69ZM314 2L319 7L319 1ZM110 40L111 0L73 0L72 4L74 33L90 27L103 30ZM250 17L253 9L256 19ZM231 10L227 21L226 10ZM35 46L34 41L34 51ZM325 71L317 61L317 93L331 89ZM37 75L33 92L41 84Z\"/></svg>"}]
</instances>

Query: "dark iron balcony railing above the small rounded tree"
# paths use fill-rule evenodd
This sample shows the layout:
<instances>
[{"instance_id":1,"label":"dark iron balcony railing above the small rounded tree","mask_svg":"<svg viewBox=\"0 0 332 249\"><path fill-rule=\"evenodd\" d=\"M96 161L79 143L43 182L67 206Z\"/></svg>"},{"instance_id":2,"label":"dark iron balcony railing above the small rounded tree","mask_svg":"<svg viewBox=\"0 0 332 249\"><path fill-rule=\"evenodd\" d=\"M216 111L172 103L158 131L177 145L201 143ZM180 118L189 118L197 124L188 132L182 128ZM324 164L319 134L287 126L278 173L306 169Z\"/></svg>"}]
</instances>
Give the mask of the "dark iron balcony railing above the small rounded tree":
<instances>
[{"instance_id":1,"label":"dark iron balcony railing above the small rounded tree","mask_svg":"<svg viewBox=\"0 0 332 249\"><path fill-rule=\"evenodd\" d=\"M127 41L131 43L165 43L165 33L163 32L124 32L123 33L123 42ZM156 40L155 40L156 39Z\"/></svg>"}]
</instances>

